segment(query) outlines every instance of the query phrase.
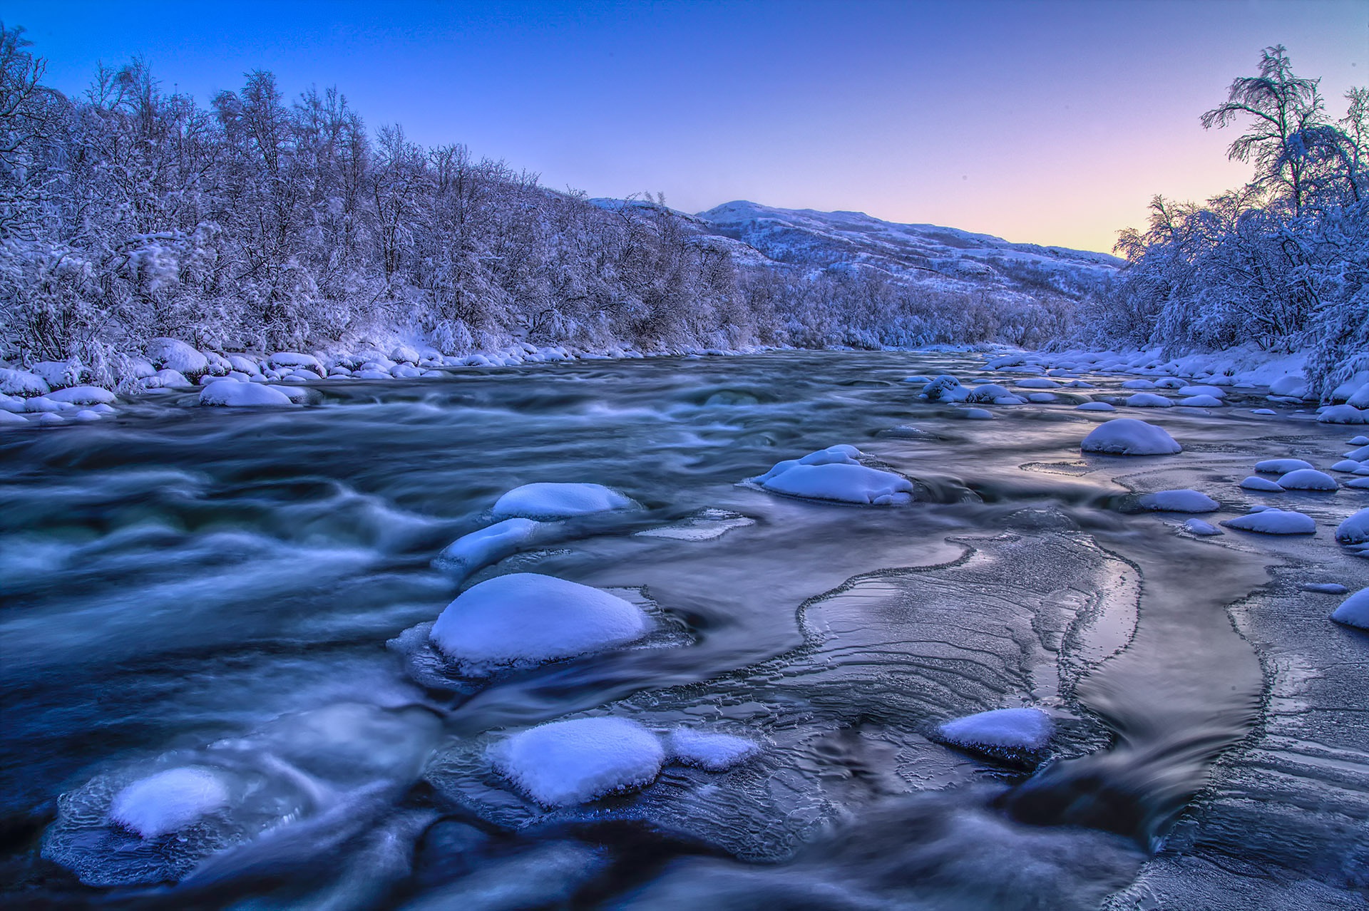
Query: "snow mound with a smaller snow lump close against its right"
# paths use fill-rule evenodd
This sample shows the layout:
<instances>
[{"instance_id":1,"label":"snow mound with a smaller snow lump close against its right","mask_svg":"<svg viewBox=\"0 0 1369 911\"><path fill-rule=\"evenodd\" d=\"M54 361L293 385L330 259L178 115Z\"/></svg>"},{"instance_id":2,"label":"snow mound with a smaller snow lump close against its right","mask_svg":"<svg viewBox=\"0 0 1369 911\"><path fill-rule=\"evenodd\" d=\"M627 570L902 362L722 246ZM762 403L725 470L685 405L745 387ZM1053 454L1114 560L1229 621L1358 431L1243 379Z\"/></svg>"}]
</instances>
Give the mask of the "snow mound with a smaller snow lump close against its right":
<instances>
[{"instance_id":1,"label":"snow mound with a smaller snow lump close against its right","mask_svg":"<svg viewBox=\"0 0 1369 911\"><path fill-rule=\"evenodd\" d=\"M545 807L642 788L665 762L656 735L624 718L553 721L507 737L489 755L519 791Z\"/></svg>"}]
</instances>

